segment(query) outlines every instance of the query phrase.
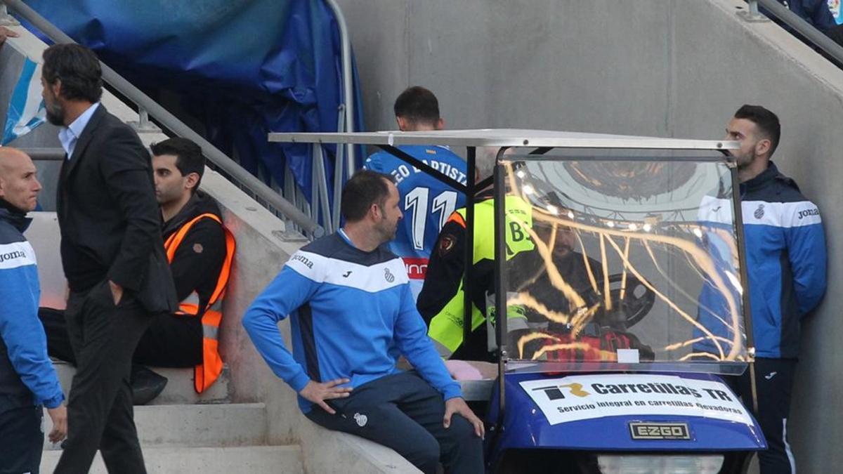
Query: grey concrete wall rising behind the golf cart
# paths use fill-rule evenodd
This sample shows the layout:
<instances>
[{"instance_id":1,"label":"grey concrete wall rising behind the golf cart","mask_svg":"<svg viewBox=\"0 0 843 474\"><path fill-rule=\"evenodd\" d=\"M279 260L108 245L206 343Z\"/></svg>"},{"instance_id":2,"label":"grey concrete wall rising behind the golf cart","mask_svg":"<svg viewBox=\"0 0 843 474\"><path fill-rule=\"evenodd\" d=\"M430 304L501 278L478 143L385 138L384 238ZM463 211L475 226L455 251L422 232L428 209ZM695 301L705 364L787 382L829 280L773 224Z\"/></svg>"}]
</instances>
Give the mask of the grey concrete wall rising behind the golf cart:
<instances>
[{"instance_id":1,"label":"grey concrete wall rising behind the golf cart","mask_svg":"<svg viewBox=\"0 0 843 474\"><path fill-rule=\"evenodd\" d=\"M338 0L370 130L420 84L449 128L719 138L744 103L781 118L776 164L824 213L830 287L804 321L788 433L802 471L843 462L843 73L740 0Z\"/></svg>"}]
</instances>

